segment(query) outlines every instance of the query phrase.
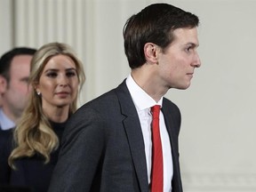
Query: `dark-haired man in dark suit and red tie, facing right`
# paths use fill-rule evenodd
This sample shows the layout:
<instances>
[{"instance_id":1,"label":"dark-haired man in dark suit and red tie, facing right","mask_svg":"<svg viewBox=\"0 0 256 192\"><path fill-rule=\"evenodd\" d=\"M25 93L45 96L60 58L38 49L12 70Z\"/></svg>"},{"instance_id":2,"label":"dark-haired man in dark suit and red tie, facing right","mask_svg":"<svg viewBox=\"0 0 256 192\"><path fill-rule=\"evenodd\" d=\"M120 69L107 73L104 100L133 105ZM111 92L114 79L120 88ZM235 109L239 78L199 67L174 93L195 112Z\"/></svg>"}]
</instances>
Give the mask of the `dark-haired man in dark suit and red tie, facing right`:
<instances>
[{"instance_id":1,"label":"dark-haired man in dark suit and red tie, facing right","mask_svg":"<svg viewBox=\"0 0 256 192\"><path fill-rule=\"evenodd\" d=\"M182 192L180 110L164 94L187 89L201 65L198 22L171 4L151 4L127 20L124 49L131 75L71 117L49 192ZM150 108L155 105L161 107L161 157L153 158ZM161 174L151 171L159 159ZM159 188L153 188L156 174Z\"/></svg>"}]
</instances>

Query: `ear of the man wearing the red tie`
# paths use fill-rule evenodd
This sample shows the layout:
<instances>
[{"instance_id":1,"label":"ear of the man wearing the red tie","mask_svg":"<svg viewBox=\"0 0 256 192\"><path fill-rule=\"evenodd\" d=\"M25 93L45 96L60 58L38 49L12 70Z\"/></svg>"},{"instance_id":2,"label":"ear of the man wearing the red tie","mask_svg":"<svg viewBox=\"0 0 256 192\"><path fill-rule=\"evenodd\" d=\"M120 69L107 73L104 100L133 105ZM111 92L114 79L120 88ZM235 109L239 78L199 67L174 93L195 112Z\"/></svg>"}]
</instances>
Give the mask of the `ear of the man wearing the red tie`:
<instances>
[{"instance_id":1,"label":"ear of the man wearing the red tie","mask_svg":"<svg viewBox=\"0 0 256 192\"><path fill-rule=\"evenodd\" d=\"M157 63L158 46L156 44L147 43L144 45L145 59L150 63Z\"/></svg>"}]
</instances>

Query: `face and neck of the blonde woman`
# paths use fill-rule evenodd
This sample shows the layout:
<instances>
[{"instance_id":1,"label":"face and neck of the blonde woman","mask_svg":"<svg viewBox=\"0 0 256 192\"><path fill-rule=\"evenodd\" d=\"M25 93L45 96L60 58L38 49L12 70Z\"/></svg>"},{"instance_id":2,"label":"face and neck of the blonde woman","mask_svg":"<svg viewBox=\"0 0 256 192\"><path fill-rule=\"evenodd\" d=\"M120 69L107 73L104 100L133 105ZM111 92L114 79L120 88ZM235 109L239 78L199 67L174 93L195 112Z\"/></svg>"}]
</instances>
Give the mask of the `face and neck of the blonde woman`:
<instances>
[{"instance_id":1,"label":"face and neck of the blonde woman","mask_svg":"<svg viewBox=\"0 0 256 192\"><path fill-rule=\"evenodd\" d=\"M52 57L45 66L36 92L40 92L44 114L53 122L62 123L68 119L70 104L78 92L76 64L68 56Z\"/></svg>"}]
</instances>

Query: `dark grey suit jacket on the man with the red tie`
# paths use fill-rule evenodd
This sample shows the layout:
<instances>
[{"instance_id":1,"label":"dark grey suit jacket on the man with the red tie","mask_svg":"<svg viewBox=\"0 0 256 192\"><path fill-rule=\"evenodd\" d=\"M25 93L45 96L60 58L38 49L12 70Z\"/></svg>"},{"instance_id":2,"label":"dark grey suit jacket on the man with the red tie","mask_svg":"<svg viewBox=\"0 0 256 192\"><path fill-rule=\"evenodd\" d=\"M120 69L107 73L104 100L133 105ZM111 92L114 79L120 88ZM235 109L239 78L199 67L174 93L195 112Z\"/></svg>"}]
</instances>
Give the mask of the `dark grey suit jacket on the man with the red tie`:
<instances>
[{"instance_id":1,"label":"dark grey suit jacket on the man with the red tie","mask_svg":"<svg viewBox=\"0 0 256 192\"><path fill-rule=\"evenodd\" d=\"M182 192L180 110L163 100L173 158L172 192ZM49 192L148 192L140 120L125 81L76 111L63 133Z\"/></svg>"}]
</instances>

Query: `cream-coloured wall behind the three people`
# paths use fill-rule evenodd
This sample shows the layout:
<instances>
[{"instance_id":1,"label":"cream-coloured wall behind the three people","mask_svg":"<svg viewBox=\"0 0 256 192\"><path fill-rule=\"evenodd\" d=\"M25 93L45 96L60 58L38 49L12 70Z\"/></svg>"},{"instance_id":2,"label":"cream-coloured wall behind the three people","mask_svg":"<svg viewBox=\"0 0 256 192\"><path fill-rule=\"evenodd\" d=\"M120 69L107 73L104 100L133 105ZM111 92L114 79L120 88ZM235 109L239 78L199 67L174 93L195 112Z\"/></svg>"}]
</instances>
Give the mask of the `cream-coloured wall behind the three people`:
<instances>
[{"instance_id":1,"label":"cream-coloured wall behind the three people","mask_svg":"<svg viewBox=\"0 0 256 192\"><path fill-rule=\"evenodd\" d=\"M9 0L0 0L1 4L8 4L7 2ZM37 0L36 3L35 0L16 0L16 9L20 12L16 14L16 20L19 20L20 28L24 28L24 23L25 26L28 25L25 19L22 20L22 15L26 17L28 13L24 12L28 10L32 15L35 14L35 18L41 15L41 22L44 15L49 17L46 13L51 11L52 21L44 21L40 25L35 24L35 19L30 19L30 28L17 28L14 31L14 45L40 46L55 40L71 44L84 61L87 76L82 104L116 87L129 74L123 48L124 22L133 13L155 2L157 1ZM256 1L164 2L194 12L201 20L198 28L198 51L202 67L196 69L188 90L170 90L166 95L180 107L182 113L180 165L184 191L256 191ZM57 3L66 3L68 6L56 6ZM38 4L41 10L39 15L38 12L33 12L33 7L38 7ZM60 10L63 7L66 10L76 8L76 14L70 13L71 11L69 14L76 24L80 23L77 24L78 27L74 27L72 20L62 19L61 25L56 21L58 17L61 20ZM7 15L8 12L3 6L0 9L1 42L4 38L3 46L0 47L3 52L3 47L12 46L13 38L10 36L11 29L10 33L5 31L4 26L8 22L2 18L3 12ZM59 10L58 17L55 17L56 10ZM39 30L35 25L38 25ZM59 31L56 32L59 33L58 36L54 33L54 28ZM52 30L52 33L47 34L45 30ZM63 36L61 31L67 30L69 35Z\"/></svg>"}]
</instances>

